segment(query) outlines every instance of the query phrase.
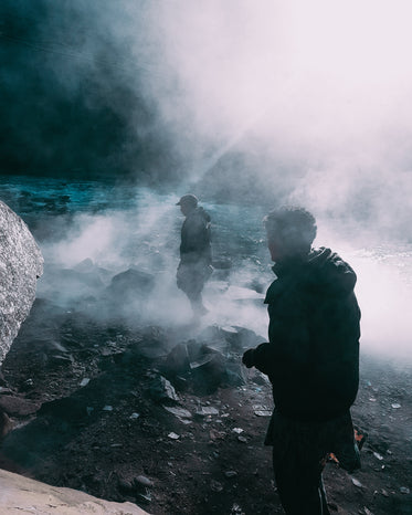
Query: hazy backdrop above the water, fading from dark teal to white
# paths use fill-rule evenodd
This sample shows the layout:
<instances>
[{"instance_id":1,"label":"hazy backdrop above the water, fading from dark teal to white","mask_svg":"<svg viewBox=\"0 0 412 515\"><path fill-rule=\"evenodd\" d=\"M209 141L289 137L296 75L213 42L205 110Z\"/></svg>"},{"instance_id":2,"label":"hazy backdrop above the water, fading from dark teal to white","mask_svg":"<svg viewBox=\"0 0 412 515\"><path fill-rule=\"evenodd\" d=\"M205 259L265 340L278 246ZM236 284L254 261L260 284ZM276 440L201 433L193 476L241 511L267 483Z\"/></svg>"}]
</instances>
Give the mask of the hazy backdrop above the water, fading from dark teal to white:
<instances>
[{"instance_id":1,"label":"hazy backdrop above the water, fading from dark teal to white","mask_svg":"<svg viewBox=\"0 0 412 515\"><path fill-rule=\"evenodd\" d=\"M252 185L412 240L409 0L39 2L4 0L14 157L178 195L212 170L232 201Z\"/></svg>"}]
</instances>

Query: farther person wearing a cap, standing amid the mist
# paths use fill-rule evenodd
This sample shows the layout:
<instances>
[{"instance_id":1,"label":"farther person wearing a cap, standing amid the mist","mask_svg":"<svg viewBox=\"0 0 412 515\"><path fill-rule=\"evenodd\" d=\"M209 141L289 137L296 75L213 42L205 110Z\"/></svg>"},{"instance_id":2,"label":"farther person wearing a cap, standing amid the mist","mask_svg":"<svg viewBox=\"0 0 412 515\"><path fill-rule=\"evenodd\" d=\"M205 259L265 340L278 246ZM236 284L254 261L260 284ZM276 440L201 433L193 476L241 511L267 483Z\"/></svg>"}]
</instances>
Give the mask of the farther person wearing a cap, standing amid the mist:
<instances>
[{"instance_id":1,"label":"farther person wearing a cap, standing amid the mist","mask_svg":"<svg viewBox=\"0 0 412 515\"><path fill-rule=\"evenodd\" d=\"M193 316L198 318L208 309L203 305L202 290L212 273L211 219L198 198L188 193L181 197L180 206L186 220L181 228L180 263L177 271L177 285L188 296Z\"/></svg>"}]
</instances>

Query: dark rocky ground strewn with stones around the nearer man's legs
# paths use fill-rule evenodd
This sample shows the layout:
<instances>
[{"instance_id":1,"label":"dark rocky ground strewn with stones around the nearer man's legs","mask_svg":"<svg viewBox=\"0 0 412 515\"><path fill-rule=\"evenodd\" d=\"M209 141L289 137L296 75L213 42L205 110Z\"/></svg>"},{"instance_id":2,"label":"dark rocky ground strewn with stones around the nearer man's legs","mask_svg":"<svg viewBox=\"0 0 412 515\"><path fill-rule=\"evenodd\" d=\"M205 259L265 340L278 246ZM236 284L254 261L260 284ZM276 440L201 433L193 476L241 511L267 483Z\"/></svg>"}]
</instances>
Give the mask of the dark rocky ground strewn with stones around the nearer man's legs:
<instances>
[{"instance_id":1,"label":"dark rocky ground strewn with stones around the nearer man's legs","mask_svg":"<svg viewBox=\"0 0 412 515\"><path fill-rule=\"evenodd\" d=\"M157 515L282 513L263 446L270 385L240 366L257 339L240 327L131 327L98 320L91 299L38 299L2 368L13 430L0 465ZM412 513L411 386L408 369L362 357L362 469L327 465L332 513Z\"/></svg>"}]
</instances>

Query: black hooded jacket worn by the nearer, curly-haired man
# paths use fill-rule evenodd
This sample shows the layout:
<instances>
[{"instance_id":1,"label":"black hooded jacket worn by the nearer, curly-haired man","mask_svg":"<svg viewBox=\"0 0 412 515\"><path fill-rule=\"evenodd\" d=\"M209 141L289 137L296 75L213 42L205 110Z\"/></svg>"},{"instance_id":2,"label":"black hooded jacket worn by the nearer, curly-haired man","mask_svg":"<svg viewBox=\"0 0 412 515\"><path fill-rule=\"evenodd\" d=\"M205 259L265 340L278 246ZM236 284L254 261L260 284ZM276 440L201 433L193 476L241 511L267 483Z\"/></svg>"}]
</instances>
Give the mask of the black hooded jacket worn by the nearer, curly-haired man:
<instances>
[{"instance_id":1,"label":"black hooded jacket worn by the nearer, curly-haired man","mask_svg":"<svg viewBox=\"0 0 412 515\"><path fill-rule=\"evenodd\" d=\"M273 267L266 344L254 365L267 374L278 412L296 420L335 418L353 403L359 382L360 309L353 270L330 249Z\"/></svg>"}]
</instances>

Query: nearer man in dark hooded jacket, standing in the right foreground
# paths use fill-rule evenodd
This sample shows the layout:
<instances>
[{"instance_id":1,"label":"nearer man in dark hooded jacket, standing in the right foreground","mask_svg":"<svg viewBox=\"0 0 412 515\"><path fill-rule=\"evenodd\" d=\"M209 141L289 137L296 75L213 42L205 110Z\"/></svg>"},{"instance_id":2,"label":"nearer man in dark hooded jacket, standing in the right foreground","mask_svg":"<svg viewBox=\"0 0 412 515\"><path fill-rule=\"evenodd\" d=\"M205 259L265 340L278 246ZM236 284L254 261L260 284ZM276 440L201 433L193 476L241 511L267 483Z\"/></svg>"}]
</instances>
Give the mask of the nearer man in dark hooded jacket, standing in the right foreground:
<instances>
[{"instance_id":1,"label":"nearer man in dark hooded jacket, standing in the right foreground","mask_svg":"<svg viewBox=\"0 0 412 515\"><path fill-rule=\"evenodd\" d=\"M349 408L359 383L360 309L353 270L330 249L313 249L315 218L281 208L264 219L275 281L265 303L268 343L243 355L272 382L275 409L265 444L287 514L329 514L321 472L329 453L360 466Z\"/></svg>"}]
</instances>

